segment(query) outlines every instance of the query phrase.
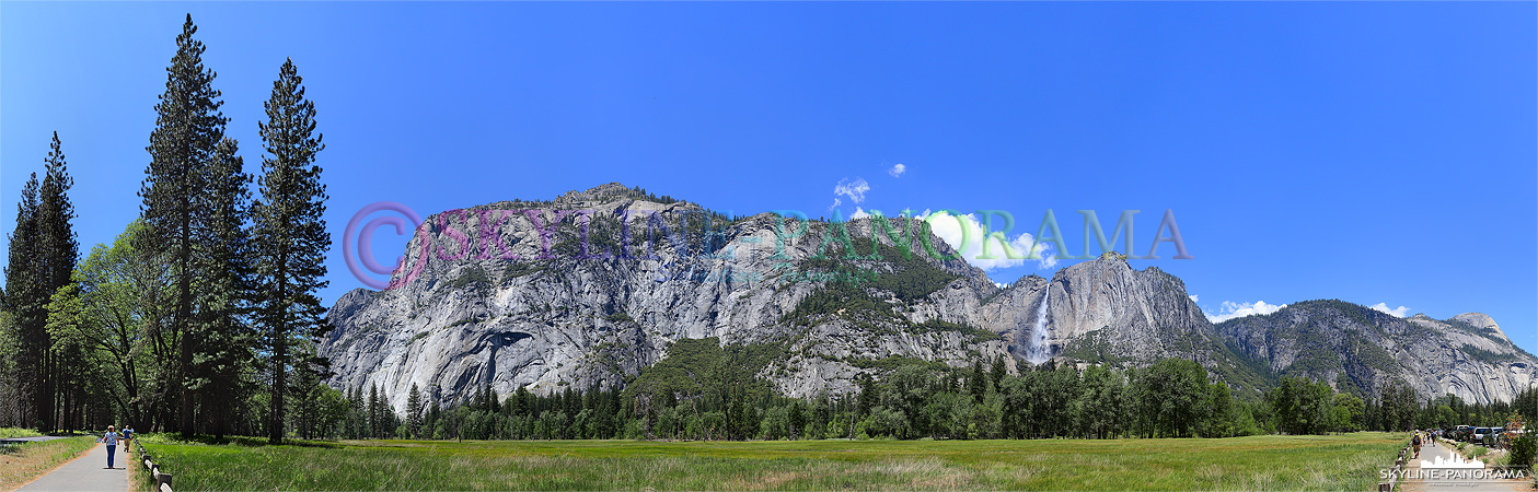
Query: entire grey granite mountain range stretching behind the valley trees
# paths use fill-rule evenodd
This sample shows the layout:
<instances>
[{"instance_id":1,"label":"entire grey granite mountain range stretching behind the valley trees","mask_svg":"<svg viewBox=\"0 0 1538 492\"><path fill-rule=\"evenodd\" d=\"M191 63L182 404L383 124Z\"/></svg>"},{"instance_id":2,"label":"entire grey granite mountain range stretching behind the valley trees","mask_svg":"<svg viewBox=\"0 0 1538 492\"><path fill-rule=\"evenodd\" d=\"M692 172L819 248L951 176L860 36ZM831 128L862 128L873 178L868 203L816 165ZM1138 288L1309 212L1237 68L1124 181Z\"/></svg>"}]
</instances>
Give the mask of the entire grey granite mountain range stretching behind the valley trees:
<instances>
[{"instance_id":1,"label":"entire grey granite mountain range stretching behind the valley trees","mask_svg":"<svg viewBox=\"0 0 1538 492\"><path fill-rule=\"evenodd\" d=\"M1015 371L1032 354L1134 366L1189 358L1258 392L1300 354L1363 351L1346 332L1289 341L1283 321L1260 338L1233 321L1215 327L1180 278L1135 271L1117 254L1000 289L917 220L723 217L618 183L435 214L406 249L391 289L337 300L328 314L335 329L318 347L332 360L332 386L377 384L397 409L412 384L437 401L483 386L548 394L624 384L671 343L706 337L771 347L778 355L760 375L797 397L854 391L861 374L901 361L1003 358ZM1387 337L1387 354L1453 347L1438 354L1463 361L1486 352L1461 343L1498 357L1512 349L1483 315L1383 323L1383 332L1464 334L1423 346ZM1532 377L1530 360L1401 369L1432 371L1436 383L1416 389L1501 398Z\"/></svg>"}]
</instances>

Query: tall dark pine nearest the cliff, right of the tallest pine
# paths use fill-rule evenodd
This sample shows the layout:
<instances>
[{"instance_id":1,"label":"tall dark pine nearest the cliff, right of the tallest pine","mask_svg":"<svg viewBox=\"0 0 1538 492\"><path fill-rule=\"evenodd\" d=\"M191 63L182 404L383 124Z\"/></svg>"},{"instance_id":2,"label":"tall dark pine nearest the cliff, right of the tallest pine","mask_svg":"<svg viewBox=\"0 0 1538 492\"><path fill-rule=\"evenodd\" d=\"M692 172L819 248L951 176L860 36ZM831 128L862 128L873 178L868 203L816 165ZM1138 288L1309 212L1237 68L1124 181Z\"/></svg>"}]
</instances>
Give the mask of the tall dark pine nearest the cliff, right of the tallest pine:
<instances>
[{"instance_id":1,"label":"tall dark pine nearest the cliff, right of the tallest pine","mask_svg":"<svg viewBox=\"0 0 1538 492\"><path fill-rule=\"evenodd\" d=\"M251 214L260 295L255 320L269 369L268 438L280 443L289 371L312 371L320 363L303 341L318 340L331 327L315 295L326 286L321 278L331 235L321 218L326 184L320 183L321 169L315 166L315 152L325 145L315 132L315 105L305 100L294 60L278 69L272 98L263 106L268 121L258 125L268 155L261 158L261 194Z\"/></svg>"}]
</instances>

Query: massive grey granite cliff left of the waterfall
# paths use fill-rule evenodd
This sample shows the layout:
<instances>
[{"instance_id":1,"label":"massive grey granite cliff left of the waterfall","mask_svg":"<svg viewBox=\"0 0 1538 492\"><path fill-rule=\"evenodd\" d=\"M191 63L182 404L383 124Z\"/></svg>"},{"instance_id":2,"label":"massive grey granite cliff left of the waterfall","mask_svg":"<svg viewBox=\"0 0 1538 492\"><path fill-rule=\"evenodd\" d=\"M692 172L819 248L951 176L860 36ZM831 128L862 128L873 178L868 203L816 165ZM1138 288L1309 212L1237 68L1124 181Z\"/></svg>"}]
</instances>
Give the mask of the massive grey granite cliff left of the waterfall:
<instances>
[{"instance_id":1,"label":"massive grey granite cliff left of the waterfall","mask_svg":"<svg viewBox=\"0 0 1538 492\"><path fill-rule=\"evenodd\" d=\"M961 260L935 260L955 252L938 237L915 238L920 221L891 223L891 234L877 234L881 248L910 241L906 269L923 271L937 289L858 289L887 315L838 309L789 323L824 284L903 277L891 261L844 258L849 246L872 254L875 221L812 221L801 232L794 218L720 217L617 183L449 211L417 229L391 289L337 301L320 354L332 360L331 384L378 384L395 407L412 384L440 401L483 384L500 394L623 384L681 338L786 346L766 375L792 395L849 391L855 375L891 357L1004 357L1006 340L960 324L998 289ZM849 243L838 241L846 235ZM820 249L832 261L814 261ZM838 275L849 278L829 280ZM957 324L917 326L930 320Z\"/></svg>"}]
</instances>

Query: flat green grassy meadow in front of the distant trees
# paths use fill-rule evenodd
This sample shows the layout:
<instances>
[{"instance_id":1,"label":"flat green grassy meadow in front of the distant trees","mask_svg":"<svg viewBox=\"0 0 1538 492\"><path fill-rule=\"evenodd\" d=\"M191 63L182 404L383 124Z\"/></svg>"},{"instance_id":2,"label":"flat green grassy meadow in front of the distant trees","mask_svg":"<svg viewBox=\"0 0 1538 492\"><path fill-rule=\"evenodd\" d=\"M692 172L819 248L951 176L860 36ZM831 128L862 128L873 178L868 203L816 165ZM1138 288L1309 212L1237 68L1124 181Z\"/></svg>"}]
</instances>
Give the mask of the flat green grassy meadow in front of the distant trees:
<instances>
[{"instance_id":1,"label":"flat green grassy meadow in front of the distant trees","mask_svg":"<svg viewBox=\"0 0 1538 492\"><path fill-rule=\"evenodd\" d=\"M1406 435L990 441L143 441L175 490L1370 490ZM148 474L141 474L148 475ZM141 481L149 490L152 486Z\"/></svg>"}]
</instances>

